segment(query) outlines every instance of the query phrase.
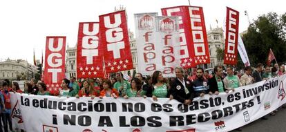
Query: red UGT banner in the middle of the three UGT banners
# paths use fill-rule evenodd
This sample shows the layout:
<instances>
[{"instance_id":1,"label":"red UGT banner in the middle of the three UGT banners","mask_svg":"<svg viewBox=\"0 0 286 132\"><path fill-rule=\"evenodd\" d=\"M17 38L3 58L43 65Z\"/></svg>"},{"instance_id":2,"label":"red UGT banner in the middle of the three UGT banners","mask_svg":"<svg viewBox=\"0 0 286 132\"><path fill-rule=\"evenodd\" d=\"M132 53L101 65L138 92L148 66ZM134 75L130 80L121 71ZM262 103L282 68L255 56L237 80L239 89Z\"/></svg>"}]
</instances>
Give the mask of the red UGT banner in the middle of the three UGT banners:
<instances>
[{"instance_id":1,"label":"red UGT banner in the middle of the three UGT banners","mask_svg":"<svg viewBox=\"0 0 286 132\"><path fill-rule=\"evenodd\" d=\"M99 23L79 23L77 39L77 77L104 77L104 45L99 44Z\"/></svg>"}]
</instances>

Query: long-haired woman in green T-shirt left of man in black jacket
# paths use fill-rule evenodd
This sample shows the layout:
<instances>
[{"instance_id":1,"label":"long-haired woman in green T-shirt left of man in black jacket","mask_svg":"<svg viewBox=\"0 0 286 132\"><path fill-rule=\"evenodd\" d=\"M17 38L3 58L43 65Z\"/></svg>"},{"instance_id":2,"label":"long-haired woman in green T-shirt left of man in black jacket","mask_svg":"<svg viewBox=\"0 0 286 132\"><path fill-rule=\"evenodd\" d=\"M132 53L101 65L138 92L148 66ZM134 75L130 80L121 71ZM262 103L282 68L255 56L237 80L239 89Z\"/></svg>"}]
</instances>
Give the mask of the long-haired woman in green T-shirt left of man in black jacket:
<instances>
[{"instance_id":1,"label":"long-haired woman in green T-shirt left of man in black jacket","mask_svg":"<svg viewBox=\"0 0 286 132\"><path fill-rule=\"evenodd\" d=\"M167 88L164 82L164 77L162 72L156 70L152 75L152 84L153 84L153 92L152 98L154 101L157 101L157 98L166 98L169 97L169 89Z\"/></svg>"}]
</instances>

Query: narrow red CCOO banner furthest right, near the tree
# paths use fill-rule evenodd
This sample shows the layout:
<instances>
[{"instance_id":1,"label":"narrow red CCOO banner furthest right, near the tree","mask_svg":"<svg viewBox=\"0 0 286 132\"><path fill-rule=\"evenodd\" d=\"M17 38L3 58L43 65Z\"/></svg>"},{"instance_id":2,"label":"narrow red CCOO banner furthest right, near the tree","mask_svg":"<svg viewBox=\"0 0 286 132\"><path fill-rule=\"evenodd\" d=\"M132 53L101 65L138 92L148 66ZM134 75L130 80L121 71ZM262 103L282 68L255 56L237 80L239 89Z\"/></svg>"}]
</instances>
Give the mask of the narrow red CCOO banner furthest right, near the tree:
<instances>
[{"instance_id":1,"label":"narrow red CCOO banner furthest right, near the tree","mask_svg":"<svg viewBox=\"0 0 286 132\"><path fill-rule=\"evenodd\" d=\"M236 65L238 57L239 12L227 7L224 64Z\"/></svg>"}]
</instances>

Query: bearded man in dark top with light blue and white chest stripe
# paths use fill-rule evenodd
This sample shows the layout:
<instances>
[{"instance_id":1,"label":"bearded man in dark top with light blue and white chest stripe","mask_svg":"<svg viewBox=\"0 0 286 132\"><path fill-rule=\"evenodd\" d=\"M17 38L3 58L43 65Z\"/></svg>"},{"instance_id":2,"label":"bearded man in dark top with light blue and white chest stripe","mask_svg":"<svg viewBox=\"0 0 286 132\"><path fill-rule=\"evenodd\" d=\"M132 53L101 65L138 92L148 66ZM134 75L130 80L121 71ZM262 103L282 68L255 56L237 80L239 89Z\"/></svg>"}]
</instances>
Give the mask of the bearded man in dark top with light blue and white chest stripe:
<instances>
[{"instance_id":1,"label":"bearded man in dark top with light blue and white chest stripe","mask_svg":"<svg viewBox=\"0 0 286 132\"><path fill-rule=\"evenodd\" d=\"M203 77L204 69L196 69L196 79L193 80L193 90L195 91L195 97L202 97L204 94L209 93L208 80Z\"/></svg>"}]
</instances>

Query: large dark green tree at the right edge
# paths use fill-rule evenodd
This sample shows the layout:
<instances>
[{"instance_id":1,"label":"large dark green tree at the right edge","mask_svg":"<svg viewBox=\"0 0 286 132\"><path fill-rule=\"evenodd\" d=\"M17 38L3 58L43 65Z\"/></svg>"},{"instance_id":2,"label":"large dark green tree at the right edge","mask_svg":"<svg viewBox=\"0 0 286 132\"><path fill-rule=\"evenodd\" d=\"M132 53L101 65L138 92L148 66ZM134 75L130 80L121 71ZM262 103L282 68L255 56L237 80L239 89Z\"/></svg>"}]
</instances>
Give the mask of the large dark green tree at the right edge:
<instances>
[{"instance_id":1,"label":"large dark green tree at the right edge","mask_svg":"<svg viewBox=\"0 0 286 132\"><path fill-rule=\"evenodd\" d=\"M286 13L261 15L249 25L242 40L251 64L265 64L271 48L278 63L286 61Z\"/></svg>"}]
</instances>

